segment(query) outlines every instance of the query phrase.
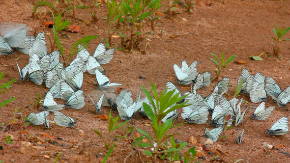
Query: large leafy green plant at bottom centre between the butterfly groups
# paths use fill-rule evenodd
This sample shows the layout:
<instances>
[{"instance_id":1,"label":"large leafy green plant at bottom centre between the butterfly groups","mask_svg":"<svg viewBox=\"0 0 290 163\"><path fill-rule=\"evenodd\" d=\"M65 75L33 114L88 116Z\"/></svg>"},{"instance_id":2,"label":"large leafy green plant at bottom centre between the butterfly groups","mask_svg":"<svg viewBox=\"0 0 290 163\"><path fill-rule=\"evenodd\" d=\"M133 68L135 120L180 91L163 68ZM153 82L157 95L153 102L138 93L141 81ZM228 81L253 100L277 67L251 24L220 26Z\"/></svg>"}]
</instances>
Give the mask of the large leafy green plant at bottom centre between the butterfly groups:
<instances>
[{"instance_id":1,"label":"large leafy green plant at bottom centre between the butterfly groups","mask_svg":"<svg viewBox=\"0 0 290 163\"><path fill-rule=\"evenodd\" d=\"M144 130L141 130L139 128L136 128L139 133L141 133L147 139L149 139L149 142L148 143L141 142L142 139L144 138L144 136L140 136L136 140L136 142L132 145L132 147L138 144L139 147L152 148L151 151L145 150L144 153L146 155L150 156L154 162L156 160L156 157L161 153L159 149L163 146L162 143L167 138L179 134L179 133L166 134L168 132L168 130L183 124L182 123L182 124L173 126L175 121L172 121L171 118L162 124L162 119L169 112L171 112L175 109L178 109L178 108L189 106L189 105L185 105L186 102L176 104L177 102L184 99L186 96L182 96L182 97L178 98L178 95L179 95L178 93L176 95L173 95L174 90L167 92L167 88L165 88L164 92L162 92L162 91L160 92L160 95L158 98L156 88L155 88L154 84L151 83L152 93L153 93L154 98L156 99L156 105L155 105L152 97L150 96L150 93L145 89L144 86L142 86L142 88L143 88L143 92L144 92L145 96L148 98L148 100L151 102L151 104L153 106L153 109L151 109L151 107L148 104L143 103L143 108L144 108L145 113L152 120L152 123L149 123L149 124L150 124L150 127L154 133L154 140L147 132L145 132ZM174 104L176 104L176 105L174 105ZM174 106L171 109L168 109L172 105L174 105ZM164 151L162 153L164 153Z\"/></svg>"}]
</instances>

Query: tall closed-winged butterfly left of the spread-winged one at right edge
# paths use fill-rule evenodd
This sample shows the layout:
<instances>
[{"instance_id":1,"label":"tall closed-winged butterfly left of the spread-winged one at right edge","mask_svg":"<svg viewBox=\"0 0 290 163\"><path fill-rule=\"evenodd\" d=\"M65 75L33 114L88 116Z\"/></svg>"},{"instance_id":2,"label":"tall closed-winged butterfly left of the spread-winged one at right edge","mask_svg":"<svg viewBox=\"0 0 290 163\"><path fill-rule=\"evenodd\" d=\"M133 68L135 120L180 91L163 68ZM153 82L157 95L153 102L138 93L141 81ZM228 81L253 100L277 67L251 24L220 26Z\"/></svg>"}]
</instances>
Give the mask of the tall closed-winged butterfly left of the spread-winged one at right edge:
<instances>
[{"instance_id":1,"label":"tall closed-winged butterfly left of the spread-winged one at right edge","mask_svg":"<svg viewBox=\"0 0 290 163\"><path fill-rule=\"evenodd\" d=\"M250 91L250 99L253 103L260 103L267 100L264 80L265 76L262 76L259 72L254 77Z\"/></svg>"}]
</instances>

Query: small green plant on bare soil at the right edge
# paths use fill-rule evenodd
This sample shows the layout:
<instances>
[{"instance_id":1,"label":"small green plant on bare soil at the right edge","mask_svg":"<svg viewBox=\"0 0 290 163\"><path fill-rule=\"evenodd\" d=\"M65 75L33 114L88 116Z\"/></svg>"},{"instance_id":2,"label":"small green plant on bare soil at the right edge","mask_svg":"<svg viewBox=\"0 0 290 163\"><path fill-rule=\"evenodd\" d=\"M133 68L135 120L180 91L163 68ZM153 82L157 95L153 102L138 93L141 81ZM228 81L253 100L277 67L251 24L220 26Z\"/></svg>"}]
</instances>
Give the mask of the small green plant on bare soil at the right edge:
<instances>
[{"instance_id":1,"label":"small green plant on bare soil at the right edge","mask_svg":"<svg viewBox=\"0 0 290 163\"><path fill-rule=\"evenodd\" d=\"M279 29L279 27L276 25L276 28L273 28L273 31L274 31L276 37L270 36L274 40L274 43L273 42L270 43L270 45L272 45L272 47L273 47L273 54L277 55L280 60L281 60L281 57L279 55L280 48L279 48L278 44L282 41L290 41L290 39L281 40L281 38L289 31L289 29L290 29L290 27L288 27L286 29L283 29L283 27L281 27Z\"/></svg>"}]
</instances>

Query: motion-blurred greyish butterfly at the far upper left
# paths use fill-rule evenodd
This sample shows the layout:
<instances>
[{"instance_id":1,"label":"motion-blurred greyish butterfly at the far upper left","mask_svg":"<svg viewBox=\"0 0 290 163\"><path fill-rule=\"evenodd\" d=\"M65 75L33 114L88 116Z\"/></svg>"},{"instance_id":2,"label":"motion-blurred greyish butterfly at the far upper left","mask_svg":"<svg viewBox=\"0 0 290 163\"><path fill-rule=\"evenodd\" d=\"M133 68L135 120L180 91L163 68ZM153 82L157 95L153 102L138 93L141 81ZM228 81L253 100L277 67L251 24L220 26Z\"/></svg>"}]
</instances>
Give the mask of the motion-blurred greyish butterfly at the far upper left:
<instances>
[{"instance_id":1,"label":"motion-blurred greyish butterfly at the far upper left","mask_svg":"<svg viewBox=\"0 0 290 163\"><path fill-rule=\"evenodd\" d=\"M28 29L26 25L19 25L18 27L5 30L3 32L3 38L7 41L10 47L18 48L23 44L27 31Z\"/></svg>"}]
</instances>

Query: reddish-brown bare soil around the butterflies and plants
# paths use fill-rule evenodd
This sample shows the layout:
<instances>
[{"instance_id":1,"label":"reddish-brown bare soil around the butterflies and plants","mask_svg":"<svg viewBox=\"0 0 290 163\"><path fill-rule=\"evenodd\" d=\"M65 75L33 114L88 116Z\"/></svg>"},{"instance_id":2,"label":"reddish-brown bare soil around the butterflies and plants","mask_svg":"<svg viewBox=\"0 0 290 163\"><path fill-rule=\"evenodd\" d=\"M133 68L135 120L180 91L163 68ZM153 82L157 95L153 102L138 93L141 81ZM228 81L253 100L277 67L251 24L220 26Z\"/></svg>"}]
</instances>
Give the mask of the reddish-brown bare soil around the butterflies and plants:
<instances>
[{"instance_id":1,"label":"reddish-brown bare soil around the butterflies and plants","mask_svg":"<svg viewBox=\"0 0 290 163\"><path fill-rule=\"evenodd\" d=\"M85 4L90 4L91 0L88 0ZM165 10L169 0L166 0L165 7L161 10ZM27 0L1 0L0 20L1 23L22 23L27 24L30 27L29 35L44 31L52 34L51 28L45 28L44 22L51 22L52 17L49 14L49 8L42 8L47 12L47 15L43 19L32 18L31 9ZM126 53L123 51L116 51L112 61L104 65L106 75L112 82L122 83L122 88L126 88L133 92L134 98L136 97L137 90L141 89L144 85L147 89L150 87L150 82L154 82L157 91L161 91L165 87L167 81L172 81L181 92L189 91L189 86L182 86L177 84L177 79L174 74L173 64L181 64L183 59L186 59L189 63L198 60L198 71L200 73L210 71L212 75L215 72L212 70L215 65L210 61L210 53L221 56L222 52L225 52L226 58L236 54L235 61L246 61L247 64L234 64L230 63L229 68L225 68L222 72L222 77L230 77L229 94L232 97L234 94L234 87L236 85L237 78L241 73L241 69L246 67L251 74L260 72L266 77L272 77L280 85L282 89L289 86L290 81L290 48L289 42L282 42L280 47L282 60L277 57L269 58L266 54L262 55L263 61L254 61L249 59L249 55L259 55L262 52L271 52L272 49L269 43L272 41L269 36L273 36L273 27L277 24L279 27L290 27L290 1L282 0L213 0L213 5L196 5L196 10L193 13L183 12L178 14L172 20L165 19L165 15L161 17L161 25L156 27L156 32L153 35L154 38L150 38L151 41L146 41L148 44L146 54L141 54L138 51L132 53ZM90 21L89 9L77 11L76 17L82 18L83 21ZM106 16L106 5L101 6L99 9L99 17ZM179 7L178 11L184 9ZM45 11L42 11L40 15L44 15ZM67 19L70 19L66 15ZM185 18L188 22L182 21L181 18ZM72 22L72 25L78 25L81 27L80 33L67 33L69 37L63 38L64 48L69 49L76 40L87 35L98 35L99 38L91 41L87 50L93 53L97 44L102 42L102 38L106 38L105 20L99 20L97 24L86 25L82 21ZM160 30L165 31L160 35ZM150 31L149 27L145 28L145 31ZM177 35L177 39L171 39L171 35ZM290 38L290 33L285 35L285 38ZM46 37L48 49L50 51L51 45ZM113 39L115 44L120 42L119 38ZM28 63L28 55L20 54L18 52L9 56L0 57L0 72L5 71L4 79L1 83L10 81L12 79L19 79L18 70L15 64L15 59L20 58L18 63L20 67L23 67ZM139 76L145 77L145 80L139 79ZM96 86L89 83L95 83L95 77L88 73L84 74L84 84L82 89L87 93L98 92L94 91ZM221 79L221 77L220 77ZM89 82L87 82L89 81ZM209 94L217 81L213 81L211 85L205 89L203 95ZM53 162L56 158L57 152L59 155L59 162L100 162L103 157L96 157L95 154L100 152L107 153L107 150L103 147L103 141L93 132L92 129L96 129L105 133L107 130L104 126L108 125L107 121L94 118L97 114L94 111L93 104L89 98L86 98L86 106L83 109L64 109L62 112L75 119L76 127L64 128L59 127L56 124L51 124L50 129L46 130L44 126L32 126L29 128L30 139L27 139L25 135L20 138L19 132L22 130L18 124L9 125L9 121L12 118L11 110L15 108L24 108L23 112L38 112L40 108L35 108L33 102L34 98L40 95L44 95L48 89L42 85L41 87L31 83L30 81L15 82L12 84L10 90L0 95L1 101L8 99L11 96L17 97L17 99L10 104L0 109L0 123L5 125L1 126L0 137L5 138L8 135L14 137L14 143L9 145L8 150L1 150L3 154L0 155L0 160L9 162L14 160L15 162ZM200 89L198 93L202 93L204 88ZM94 99L99 97L99 93L95 93ZM250 102L249 95L242 95L239 98L244 98ZM57 101L58 103L64 103L64 101ZM41 104L40 104L41 105ZM229 155L222 155L221 158L227 162L233 163L234 159L245 159L250 163L253 162L267 162L267 163L286 163L290 162L290 156L284 155L281 152L290 152L290 134L285 136L267 136L266 131L270 126L282 116L290 115L290 112L286 109L279 109L279 107L273 103L273 100L269 98L266 101L266 107L275 106L271 116L265 121L256 121L251 119L251 115L254 112L258 104L250 103L250 107L244 117L244 121L238 126L239 128L245 128L245 134L243 136L243 143L238 145L236 143L237 127L233 127L228 130L225 135L227 139L219 138L217 142L210 145L209 148L215 149L217 145L221 150L229 152ZM244 104L243 109L246 108ZM103 107L102 113L109 114L110 108ZM113 111L113 116L116 117L118 113ZM24 117L27 114L23 115ZM17 116L19 117L19 115ZM51 119L51 117L49 118ZM51 119L52 120L52 119ZM16 119L19 123L19 119ZM130 122L131 126L141 128L152 134L149 127L145 126L149 120L139 116L135 116ZM184 122L179 117L177 124ZM169 133L179 132L178 136L175 136L178 140L187 141L190 136L203 136L204 128L212 128L210 122L203 125L184 124L178 128L172 129ZM84 135L80 134L79 130L84 131ZM122 129L118 129L114 132L114 135L122 133ZM62 140L52 139L58 141L59 144L52 145L49 142L42 142L36 144L33 136L39 136L42 139L49 139L40 134L46 133L48 135L55 135ZM131 139L132 137L130 137ZM26 148L26 154L19 152L20 144L22 141L30 141L33 145L44 146L44 149L34 149L30 147ZM274 145L276 149L270 150L267 155L261 146L263 142L267 142ZM65 146L61 146L65 144ZM70 149L73 145L77 145L77 148ZM283 147L279 147L283 145ZM185 149L189 149L193 145L189 145ZM143 151L143 149L139 149ZM83 151L83 152L81 152ZM47 155L50 158L43 157ZM142 152L140 154L137 150L131 149L131 144L128 141L120 139L115 147L112 155L108 159L111 163L121 163L125 158L130 155L126 162L151 162ZM46 157L47 157L46 156ZM208 159L202 160L202 162L209 162L213 157L206 155ZM198 159L201 160L201 159ZM160 161L163 162L163 161Z\"/></svg>"}]
</instances>

